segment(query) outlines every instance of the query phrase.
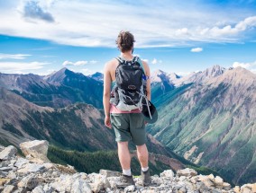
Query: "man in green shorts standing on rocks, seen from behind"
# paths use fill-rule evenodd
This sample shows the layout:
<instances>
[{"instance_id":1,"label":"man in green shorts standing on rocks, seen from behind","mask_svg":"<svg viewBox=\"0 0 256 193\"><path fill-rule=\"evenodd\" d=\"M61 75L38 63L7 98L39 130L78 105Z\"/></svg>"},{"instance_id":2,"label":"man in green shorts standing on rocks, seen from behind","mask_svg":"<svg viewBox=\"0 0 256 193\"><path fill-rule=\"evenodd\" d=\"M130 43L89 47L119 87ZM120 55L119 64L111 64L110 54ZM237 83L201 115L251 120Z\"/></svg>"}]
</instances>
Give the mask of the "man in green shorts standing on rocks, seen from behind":
<instances>
[{"instance_id":1,"label":"man in green shorts standing on rocks, seen from behind","mask_svg":"<svg viewBox=\"0 0 256 193\"><path fill-rule=\"evenodd\" d=\"M149 153L146 142L146 133L145 133L145 121L142 115L142 110L140 108L137 109L129 109L123 110L119 109L116 103L111 101L122 101L121 94L122 92L118 92L119 96L116 95L116 89L118 84L119 77L116 75L125 74L125 70L119 73L116 73L117 68L119 66L124 66L123 69L127 66L133 66L133 63L137 62L134 67L139 68L141 66L143 71L143 79L144 87L146 87L146 97L150 101L151 100L151 82L149 80L150 68L146 62L142 61L138 57L133 57L133 43L135 42L133 34L129 31L121 31L116 39L117 48L121 51L120 57L116 57L111 61L105 64L104 71L104 110L105 110L105 126L113 127L115 133L115 141L118 146L118 157L123 169L123 175L121 177L121 183L117 184L119 188L124 188L129 185L134 185L133 175L131 172L131 154L128 148L128 142L130 140L136 145L137 155L139 161L142 166L142 185L147 186L151 182L150 170L148 165ZM138 64L140 64L138 66ZM132 69L132 68L129 68ZM133 71L131 71L133 74ZM125 76L125 75L124 75ZM128 80L132 82L133 80ZM133 87L130 86L130 89L133 90ZM128 86L128 87L129 87ZM112 89L111 89L112 88ZM124 91L123 91L124 92ZM133 98L131 95L131 98ZM118 99L116 99L118 98ZM130 97L129 97L130 98ZM133 99L131 99L133 101Z\"/></svg>"}]
</instances>

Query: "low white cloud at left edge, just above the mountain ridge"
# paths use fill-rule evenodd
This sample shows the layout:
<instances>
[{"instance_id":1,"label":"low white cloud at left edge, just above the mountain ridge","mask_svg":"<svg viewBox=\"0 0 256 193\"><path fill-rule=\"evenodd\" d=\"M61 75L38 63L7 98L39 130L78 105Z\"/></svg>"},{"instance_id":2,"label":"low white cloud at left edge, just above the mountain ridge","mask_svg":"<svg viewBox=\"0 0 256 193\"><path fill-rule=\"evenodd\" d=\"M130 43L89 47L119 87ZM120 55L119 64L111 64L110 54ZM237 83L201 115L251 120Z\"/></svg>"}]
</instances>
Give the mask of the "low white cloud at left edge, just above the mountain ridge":
<instances>
[{"instance_id":1,"label":"low white cloud at left edge, just above the mountain ridge","mask_svg":"<svg viewBox=\"0 0 256 193\"><path fill-rule=\"evenodd\" d=\"M22 73L27 70L38 70L49 63L42 62L0 62L0 72L2 73Z\"/></svg>"}]
</instances>

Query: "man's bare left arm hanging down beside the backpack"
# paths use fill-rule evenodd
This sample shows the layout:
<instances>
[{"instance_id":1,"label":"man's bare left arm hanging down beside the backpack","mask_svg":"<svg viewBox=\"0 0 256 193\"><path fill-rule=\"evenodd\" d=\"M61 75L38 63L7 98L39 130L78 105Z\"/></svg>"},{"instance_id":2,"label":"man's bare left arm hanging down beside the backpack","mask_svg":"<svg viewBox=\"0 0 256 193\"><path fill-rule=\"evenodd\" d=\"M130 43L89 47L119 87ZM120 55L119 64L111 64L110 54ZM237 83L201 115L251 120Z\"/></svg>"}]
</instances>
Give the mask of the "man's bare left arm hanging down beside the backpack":
<instances>
[{"instance_id":1,"label":"man's bare left arm hanging down beside the backpack","mask_svg":"<svg viewBox=\"0 0 256 193\"><path fill-rule=\"evenodd\" d=\"M110 87L111 87L111 75L109 72L109 63L105 64L104 69L104 90L103 90L103 106L105 111L105 126L111 127L110 125Z\"/></svg>"}]
</instances>

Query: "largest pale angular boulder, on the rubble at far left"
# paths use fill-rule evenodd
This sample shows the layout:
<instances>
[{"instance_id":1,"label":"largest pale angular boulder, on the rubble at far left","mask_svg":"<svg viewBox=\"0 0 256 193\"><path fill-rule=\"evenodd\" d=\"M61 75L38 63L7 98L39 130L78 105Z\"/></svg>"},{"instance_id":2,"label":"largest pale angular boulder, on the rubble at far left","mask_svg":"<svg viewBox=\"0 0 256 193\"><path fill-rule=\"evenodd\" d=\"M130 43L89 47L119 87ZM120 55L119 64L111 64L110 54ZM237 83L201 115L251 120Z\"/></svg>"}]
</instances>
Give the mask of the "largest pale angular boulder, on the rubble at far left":
<instances>
[{"instance_id":1,"label":"largest pale angular boulder, on the rubble at far left","mask_svg":"<svg viewBox=\"0 0 256 193\"><path fill-rule=\"evenodd\" d=\"M50 162L47 158L48 145L48 141L34 140L20 144L20 147L23 151L23 154L25 154L30 159L38 158L41 161Z\"/></svg>"}]
</instances>

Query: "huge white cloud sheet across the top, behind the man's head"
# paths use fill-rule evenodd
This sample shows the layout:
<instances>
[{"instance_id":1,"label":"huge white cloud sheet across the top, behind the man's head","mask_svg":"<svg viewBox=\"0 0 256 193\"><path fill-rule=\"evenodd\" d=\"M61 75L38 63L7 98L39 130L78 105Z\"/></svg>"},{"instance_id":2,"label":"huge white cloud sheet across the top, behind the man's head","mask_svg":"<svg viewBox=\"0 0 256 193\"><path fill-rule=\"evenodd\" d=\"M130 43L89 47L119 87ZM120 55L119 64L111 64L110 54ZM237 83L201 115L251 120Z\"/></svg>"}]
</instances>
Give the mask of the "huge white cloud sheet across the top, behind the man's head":
<instances>
[{"instance_id":1,"label":"huge white cloud sheet across the top, behind the man's head","mask_svg":"<svg viewBox=\"0 0 256 193\"><path fill-rule=\"evenodd\" d=\"M123 1L20 2L18 7L0 7L0 34L72 46L115 47L114 40L121 30L132 31L139 48L190 46L198 41L233 42L241 41L243 32L256 26L255 13L231 9L227 14L210 4L195 6L193 1L139 1L140 6Z\"/></svg>"}]
</instances>

